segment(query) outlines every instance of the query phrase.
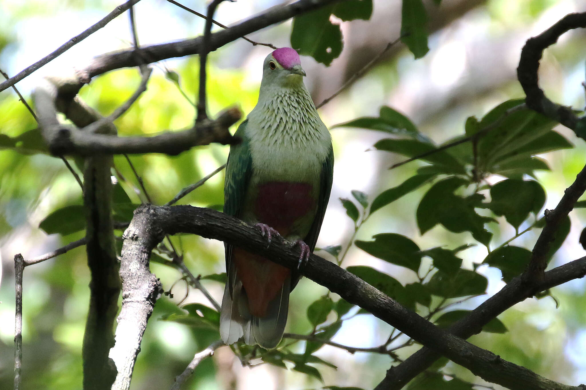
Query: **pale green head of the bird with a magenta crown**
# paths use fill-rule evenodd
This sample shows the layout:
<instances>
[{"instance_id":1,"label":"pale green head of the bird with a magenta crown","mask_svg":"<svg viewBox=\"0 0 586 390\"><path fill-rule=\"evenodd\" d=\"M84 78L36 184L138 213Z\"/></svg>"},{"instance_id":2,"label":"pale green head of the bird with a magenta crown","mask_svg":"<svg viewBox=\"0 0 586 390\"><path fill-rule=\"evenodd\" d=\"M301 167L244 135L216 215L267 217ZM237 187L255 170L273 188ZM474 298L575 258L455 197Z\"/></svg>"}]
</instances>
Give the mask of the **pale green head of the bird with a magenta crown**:
<instances>
[{"instance_id":1,"label":"pale green head of the bird with a magenta crown","mask_svg":"<svg viewBox=\"0 0 586 390\"><path fill-rule=\"evenodd\" d=\"M264 59L262 84L291 88L303 85L304 76L299 54L290 47L274 50Z\"/></svg>"}]
</instances>

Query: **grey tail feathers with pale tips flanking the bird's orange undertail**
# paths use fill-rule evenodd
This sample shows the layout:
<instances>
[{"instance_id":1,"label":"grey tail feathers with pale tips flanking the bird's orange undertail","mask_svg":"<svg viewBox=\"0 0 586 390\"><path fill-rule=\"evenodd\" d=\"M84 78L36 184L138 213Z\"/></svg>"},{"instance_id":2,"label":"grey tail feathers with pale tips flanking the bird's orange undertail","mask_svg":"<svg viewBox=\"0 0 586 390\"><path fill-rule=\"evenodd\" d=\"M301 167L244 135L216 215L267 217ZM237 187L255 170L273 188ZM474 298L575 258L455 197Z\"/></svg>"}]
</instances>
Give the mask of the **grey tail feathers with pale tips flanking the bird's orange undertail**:
<instances>
[{"instance_id":1,"label":"grey tail feathers with pale tips flanking the bird's orange undertail","mask_svg":"<svg viewBox=\"0 0 586 390\"><path fill-rule=\"evenodd\" d=\"M269 302L267 316L263 318L250 315L248 297L238 276L234 278L233 296L230 296L228 283L220 313L220 336L224 344L236 343L244 336L244 342L248 345L258 344L267 349L276 347L287 324L291 279L285 280L277 296Z\"/></svg>"}]
</instances>

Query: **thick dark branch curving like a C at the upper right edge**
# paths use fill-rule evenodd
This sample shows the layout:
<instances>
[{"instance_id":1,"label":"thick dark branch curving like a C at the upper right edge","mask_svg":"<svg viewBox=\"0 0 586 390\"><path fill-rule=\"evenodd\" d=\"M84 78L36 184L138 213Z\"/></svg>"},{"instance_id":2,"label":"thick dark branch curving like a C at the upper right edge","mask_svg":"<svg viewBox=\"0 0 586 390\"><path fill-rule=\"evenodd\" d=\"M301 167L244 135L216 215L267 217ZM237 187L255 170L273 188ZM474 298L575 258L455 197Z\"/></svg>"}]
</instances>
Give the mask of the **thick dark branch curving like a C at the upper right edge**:
<instances>
[{"instance_id":1,"label":"thick dark branch curving like a C at the upper right edge","mask_svg":"<svg viewBox=\"0 0 586 390\"><path fill-rule=\"evenodd\" d=\"M551 26L543 33L527 40L521 58L519 67L517 67L517 78L523 87L525 101L530 109L543 113L548 118L557 120L562 125L574 130L578 129L580 118L572 111L570 107L560 106L547 98L543 89L539 88L539 61L543 55L543 50L557 42L561 34L571 29L586 27L586 12L570 13L560 19L555 25ZM585 138L586 134L577 133L579 137Z\"/></svg>"}]
</instances>

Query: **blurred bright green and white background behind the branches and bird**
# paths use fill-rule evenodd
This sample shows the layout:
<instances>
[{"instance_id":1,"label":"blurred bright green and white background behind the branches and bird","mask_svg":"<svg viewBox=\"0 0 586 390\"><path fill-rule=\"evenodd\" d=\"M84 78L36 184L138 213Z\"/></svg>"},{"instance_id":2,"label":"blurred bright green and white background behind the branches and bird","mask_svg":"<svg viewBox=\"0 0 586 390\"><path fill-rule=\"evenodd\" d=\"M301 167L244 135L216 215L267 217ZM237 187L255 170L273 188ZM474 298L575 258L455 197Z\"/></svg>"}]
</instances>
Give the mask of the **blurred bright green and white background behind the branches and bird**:
<instances>
[{"instance_id":1,"label":"blurred bright green and white background behind the branches and bird","mask_svg":"<svg viewBox=\"0 0 586 390\"><path fill-rule=\"evenodd\" d=\"M185 0L182 3L196 11L205 9L205 3L201 0ZM277 3L274 0L240 0L234 4L222 4L216 19L229 25ZM332 60L331 67L317 63L314 58L302 57L308 74L306 84L316 103L336 91L388 42L400 35L401 3L386 0L373 3L373 15L369 21L342 22L343 15L339 16L340 19L331 18L334 24L341 23L344 39L342 53ZM469 116L481 119L499 103L523 96L515 78L515 68L524 41L566 13L583 10L586 5L581 0L444 0L440 6L432 1L424 4L428 9L429 53L414 60L413 54L404 45L394 46L369 73L321 109L326 125L333 126L359 117L379 118L381 106L389 106L403 113L415 123L421 136L435 144L461 136ZM117 2L106 0L2 1L0 69L9 75L15 74L96 22L116 5ZM141 44L196 36L203 28L202 20L164 0L144 0L136 6L136 12ZM289 21L250 37L258 42L290 46L291 30L292 23ZM86 58L128 47L130 40L127 18L121 16L53 63L19 82L17 87L28 99L31 89L42 75L56 74L74 65L83 66ZM584 33L581 31L565 34L556 46L546 51L540 68L541 86L548 96L558 103L578 109L584 106L584 89L580 85L584 80L583 42ZM253 47L244 40L238 40L210 55L208 91L212 115L230 105L240 106L244 113L250 112L258 96L262 60L269 51L267 47ZM165 77L166 68L179 75L180 88ZM196 93L197 68L196 57L167 60L155 65L147 92L117 120L120 134L153 134L189 126L194 109L188 98L193 99ZM134 92L139 80L137 70L114 71L96 78L81 89L81 96L98 111L108 115ZM0 113L0 136L19 137L36 127L35 120L12 91L0 93ZM573 182L575 174L584 164L582 141L575 139L570 131L561 126L556 127L556 131L575 147L540 156L551 168L549 171L534 172L546 189L545 208L548 209L554 208L564 188ZM355 212L347 203L345 208L338 198L353 199L351 191L359 190L372 201L384 190L397 187L413 177L426 163L417 161L387 170L405 157L385 151L365 151L375 144L384 146L381 140L388 134L380 131L351 126L334 127L332 137L336 154L335 177L318 246L346 247L356 226L348 215L355 215ZM12 387L13 255L22 253L25 258L38 256L83 237L83 232L79 231L61 236L47 235L39 229L39 223L54 210L80 205L81 192L62 161L43 153L32 153L42 149L42 144L36 140L35 137L18 139L21 143L15 147L21 147L20 151L0 150L0 388L6 389ZM374 149L384 150L384 147ZM214 144L175 157L149 154L131 156L131 160L143 178L153 203L163 204L181 188L222 165L227 153L227 147ZM454 151L454 154L458 153ZM125 193L133 203L140 202L142 195L135 191L137 181L125 158L115 157L115 167L125 178L120 180ZM490 175L486 183L493 185L503 178ZM376 215L369 217L356 234L356 239L368 244L373 234L400 233L410 237L422 250L436 246L453 250L471 243L470 233L449 232L441 227L421 234L425 229L421 229L421 224L418 226L415 211L430 187L431 184L424 184L411 194L377 210ZM462 192L456 194L462 195ZM485 194L488 195L488 190ZM352 202L362 218L364 215L358 200ZM221 205L223 174L208 180L180 203ZM483 211L479 213L490 216L488 211ZM586 221L586 213L582 209L575 210L571 213L571 220L568 237L550 267L584 255L578 237ZM528 227L532 220L524 223L520 230ZM493 234L492 249L515 236L515 228L507 225L504 217L485 226ZM532 230L519 237L515 244L531 249L537 234L539 231L535 233ZM186 264L193 274L224 271L222 243L195 236L173 237L173 242L185 254ZM364 249L364 244L359 245ZM345 266L367 265L392 275L402 285L418 281L414 272L370 256L362 249L350 247ZM335 254L336 250L330 248L329 252ZM332 258L325 251L319 254ZM486 248L477 245L458 253L458 257L462 258L462 268L476 270L488 279L486 292L491 295L502 287L503 281L497 268L478 265L486 254ZM424 258L423 262L422 267L425 267L430 260ZM364 268L353 268L356 273L361 269L364 271ZM169 388L173 378L186 367L193 354L218 338L217 331L212 327L162 320L185 314L185 310L178 309L179 302L182 305L208 303L199 292L188 291L182 281L178 282L181 275L176 270L154 263L152 271L161 278L166 291L172 288L173 297L163 296L156 303L142 341L132 379L133 389ZM78 248L28 267L24 276L23 388L81 388L81 340L89 281L84 249ZM213 280L203 283L216 299L221 298L222 284ZM302 279L292 292L288 332L308 333L314 328L315 322L319 321L310 314L313 323L310 322L308 308L326 292L325 288ZM483 332L472 337L471 341L545 377L571 384L583 383L586 377L586 315L581 309L586 305L584 281L568 282L552 289L551 294L555 300L549 297L528 299L499 316L508 330L506 333ZM468 299L454 309L475 308L486 296ZM431 306L441 300L434 295ZM339 308L336 306L335 309ZM352 310L351 318L343 322L332 341L353 347L374 347L387 340L391 332L389 325ZM312 311L309 310L309 313ZM335 323L336 313L329 313L326 319L328 323ZM404 341L407 338L401 342ZM305 347L305 342L299 341L291 349L302 353ZM413 344L397 353L406 358L417 348L417 344ZM312 377L294 370L283 370L270 364L259 364L252 369L241 367L229 348L220 348L213 359L209 358L197 367L186 388L306 389L323 385L372 388L384 377L391 364L390 357L386 355L349 354L330 346L324 346L315 354L339 367L335 370L326 365L316 365L323 383L315 375ZM288 368L293 366L291 361L286 365ZM448 363L442 370L444 374L455 375L462 381L483 383L453 363ZM425 381L435 379L420 378L420 382L414 382L410 388L431 388L430 382Z\"/></svg>"}]
</instances>

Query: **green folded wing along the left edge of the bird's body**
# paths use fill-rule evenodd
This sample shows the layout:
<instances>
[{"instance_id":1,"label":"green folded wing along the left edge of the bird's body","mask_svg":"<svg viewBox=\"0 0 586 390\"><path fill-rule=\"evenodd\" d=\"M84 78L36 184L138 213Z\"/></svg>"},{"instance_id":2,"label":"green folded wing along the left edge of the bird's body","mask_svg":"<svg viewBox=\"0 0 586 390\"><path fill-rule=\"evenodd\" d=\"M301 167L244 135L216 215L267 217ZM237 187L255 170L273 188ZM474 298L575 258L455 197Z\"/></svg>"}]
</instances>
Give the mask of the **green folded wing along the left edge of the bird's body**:
<instances>
[{"instance_id":1,"label":"green folded wing along the left edge of the bird's body","mask_svg":"<svg viewBox=\"0 0 586 390\"><path fill-rule=\"evenodd\" d=\"M230 147L228 162L226 165L226 180L224 181L224 213L227 215L240 217L240 211L246 196L248 182L252 174L252 157L250 156L250 144L246 136L246 125L248 120L244 120L234 133L234 136L240 137L242 142ZM226 251L226 271L229 279L233 279L235 272L230 272L230 260L232 257L232 246L224 243ZM233 280L230 280L230 292Z\"/></svg>"}]
</instances>

